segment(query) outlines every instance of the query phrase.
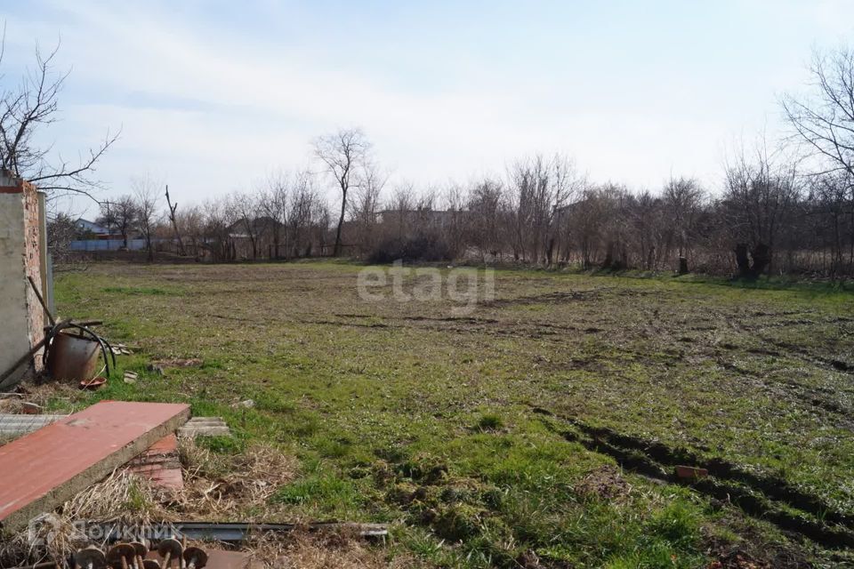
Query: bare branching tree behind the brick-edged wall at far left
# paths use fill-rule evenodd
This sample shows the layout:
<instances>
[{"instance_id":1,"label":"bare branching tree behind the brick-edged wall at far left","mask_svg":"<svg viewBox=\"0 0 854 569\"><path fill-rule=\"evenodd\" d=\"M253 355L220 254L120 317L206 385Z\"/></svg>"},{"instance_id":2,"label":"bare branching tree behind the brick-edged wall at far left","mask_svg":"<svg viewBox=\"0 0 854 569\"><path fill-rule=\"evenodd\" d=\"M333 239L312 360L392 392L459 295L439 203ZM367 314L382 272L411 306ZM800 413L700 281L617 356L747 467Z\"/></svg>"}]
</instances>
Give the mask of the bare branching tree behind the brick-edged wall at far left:
<instances>
[{"instance_id":1,"label":"bare branching tree behind the brick-edged wall at far left","mask_svg":"<svg viewBox=\"0 0 854 569\"><path fill-rule=\"evenodd\" d=\"M4 36L0 39L0 63L3 60ZM95 165L117 140L109 131L98 146L90 148L75 162L52 152L50 145L40 145L36 132L56 122L59 94L68 72L56 72L53 59L59 45L43 56L36 49L36 68L21 77L17 87L0 91L0 168L36 184L49 196L78 193L91 196L101 182L92 175Z\"/></svg>"}]
</instances>

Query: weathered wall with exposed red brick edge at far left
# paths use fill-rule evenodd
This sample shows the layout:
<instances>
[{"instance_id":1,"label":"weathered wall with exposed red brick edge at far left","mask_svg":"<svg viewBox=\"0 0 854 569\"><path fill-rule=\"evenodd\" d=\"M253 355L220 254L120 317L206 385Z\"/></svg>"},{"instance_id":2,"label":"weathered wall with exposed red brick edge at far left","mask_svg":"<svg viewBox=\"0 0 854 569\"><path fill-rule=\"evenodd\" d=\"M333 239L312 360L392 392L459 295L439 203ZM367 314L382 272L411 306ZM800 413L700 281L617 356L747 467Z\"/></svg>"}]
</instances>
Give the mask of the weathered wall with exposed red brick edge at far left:
<instances>
[{"instance_id":1,"label":"weathered wall with exposed red brick edge at far left","mask_svg":"<svg viewBox=\"0 0 854 569\"><path fill-rule=\"evenodd\" d=\"M44 310L27 280L42 283L41 225L36 188L0 172L0 373L44 335ZM16 375L40 369L38 354Z\"/></svg>"}]
</instances>

